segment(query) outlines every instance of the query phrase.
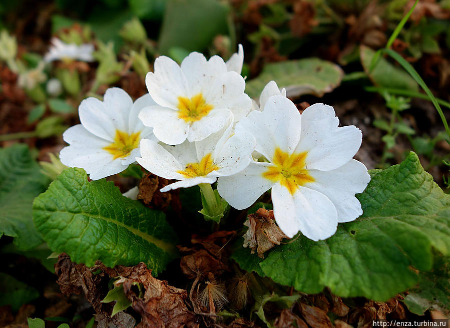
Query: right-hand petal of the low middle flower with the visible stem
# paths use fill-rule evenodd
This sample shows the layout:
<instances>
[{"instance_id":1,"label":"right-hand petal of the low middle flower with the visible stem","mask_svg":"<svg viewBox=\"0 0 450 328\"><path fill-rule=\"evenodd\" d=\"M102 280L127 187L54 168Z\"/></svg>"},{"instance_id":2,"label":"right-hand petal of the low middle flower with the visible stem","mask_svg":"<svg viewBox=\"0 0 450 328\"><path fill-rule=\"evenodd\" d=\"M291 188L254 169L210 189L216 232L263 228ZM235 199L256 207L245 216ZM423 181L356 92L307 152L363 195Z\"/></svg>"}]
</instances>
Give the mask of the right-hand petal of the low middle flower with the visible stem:
<instances>
[{"instance_id":1,"label":"right-hand petal of the low middle flower with the visible stem","mask_svg":"<svg viewBox=\"0 0 450 328\"><path fill-rule=\"evenodd\" d=\"M233 135L214 155L214 164L220 168L217 173L227 176L245 169L252 162L251 154L255 146L255 138L250 133L241 131Z\"/></svg>"}]
</instances>

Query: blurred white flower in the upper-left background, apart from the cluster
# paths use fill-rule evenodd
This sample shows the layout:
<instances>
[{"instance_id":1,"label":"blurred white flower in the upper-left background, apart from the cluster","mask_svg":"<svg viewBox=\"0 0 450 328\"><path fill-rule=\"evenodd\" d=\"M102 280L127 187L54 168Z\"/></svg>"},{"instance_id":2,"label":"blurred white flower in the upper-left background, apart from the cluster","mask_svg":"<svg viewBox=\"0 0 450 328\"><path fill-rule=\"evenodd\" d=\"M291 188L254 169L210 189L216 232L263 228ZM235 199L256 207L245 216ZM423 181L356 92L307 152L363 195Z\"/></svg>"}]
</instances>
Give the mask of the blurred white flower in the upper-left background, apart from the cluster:
<instances>
[{"instance_id":1,"label":"blurred white flower in the upper-left background, apart from the cluster","mask_svg":"<svg viewBox=\"0 0 450 328\"><path fill-rule=\"evenodd\" d=\"M44 55L47 62L54 60L80 60L94 61L92 53L94 52L94 44L83 43L77 45L75 43L65 43L57 37L52 37L52 46Z\"/></svg>"}]
</instances>

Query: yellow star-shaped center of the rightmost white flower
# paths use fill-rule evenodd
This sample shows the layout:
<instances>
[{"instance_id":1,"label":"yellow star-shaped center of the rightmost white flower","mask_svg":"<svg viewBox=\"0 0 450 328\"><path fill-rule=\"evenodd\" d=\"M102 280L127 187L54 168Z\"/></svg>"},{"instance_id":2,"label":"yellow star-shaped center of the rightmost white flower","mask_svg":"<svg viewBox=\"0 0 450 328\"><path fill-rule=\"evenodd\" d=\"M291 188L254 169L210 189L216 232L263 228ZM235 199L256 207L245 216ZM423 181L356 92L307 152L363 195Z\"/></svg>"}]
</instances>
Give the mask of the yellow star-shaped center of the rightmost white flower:
<instances>
[{"instance_id":1,"label":"yellow star-shaped center of the rightmost white flower","mask_svg":"<svg viewBox=\"0 0 450 328\"><path fill-rule=\"evenodd\" d=\"M276 148L272 161L274 165L270 166L262 176L270 181L281 183L293 195L297 191L298 186L314 181L314 178L305 169L307 155L306 151L289 155L280 148Z\"/></svg>"}]
</instances>

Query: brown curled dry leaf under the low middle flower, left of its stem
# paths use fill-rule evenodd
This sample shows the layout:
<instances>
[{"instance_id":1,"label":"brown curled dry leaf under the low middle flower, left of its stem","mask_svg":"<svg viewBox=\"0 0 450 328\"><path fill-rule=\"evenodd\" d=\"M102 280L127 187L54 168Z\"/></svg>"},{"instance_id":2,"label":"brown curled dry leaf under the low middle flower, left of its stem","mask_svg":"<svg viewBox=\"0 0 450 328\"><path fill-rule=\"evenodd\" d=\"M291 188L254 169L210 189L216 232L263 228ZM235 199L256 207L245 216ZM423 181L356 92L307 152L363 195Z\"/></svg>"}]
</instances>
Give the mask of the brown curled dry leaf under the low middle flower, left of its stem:
<instances>
[{"instance_id":1,"label":"brown curled dry leaf under the low middle flower, left of its stem","mask_svg":"<svg viewBox=\"0 0 450 328\"><path fill-rule=\"evenodd\" d=\"M137 199L151 208L166 209L172 200L171 193L162 193L161 188L169 184L169 180L152 173L145 175L139 184Z\"/></svg>"}]
</instances>

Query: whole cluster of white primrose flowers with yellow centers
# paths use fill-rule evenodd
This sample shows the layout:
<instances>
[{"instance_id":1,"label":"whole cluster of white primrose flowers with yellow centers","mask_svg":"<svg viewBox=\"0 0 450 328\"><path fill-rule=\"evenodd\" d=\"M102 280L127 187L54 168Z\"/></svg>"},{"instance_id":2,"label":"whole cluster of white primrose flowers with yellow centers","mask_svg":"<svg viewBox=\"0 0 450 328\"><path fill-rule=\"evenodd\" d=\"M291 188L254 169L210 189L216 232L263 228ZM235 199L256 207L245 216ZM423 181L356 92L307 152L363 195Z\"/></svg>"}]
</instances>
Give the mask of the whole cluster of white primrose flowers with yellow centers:
<instances>
[{"instance_id":1,"label":"whole cluster of white primrose flowers with yellow centers","mask_svg":"<svg viewBox=\"0 0 450 328\"><path fill-rule=\"evenodd\" d=\"M362 214L355 194L370 176L352 159L361 131L339 127L334 109L324 104L300 114L274 81L258 105L244 93L243 57L241 45L227 62L198 52L181 65L158 57L146 76L149 94L134 103L119 88L108 89L103 102L81 103L82 124L64 133L70 146L61 161L94 180L137 161L178 180L163 192L217 180L219 195L236 209L272 189L275 220L286 236L330 237L338 222Z\"/></svg>"}]
</instances>

